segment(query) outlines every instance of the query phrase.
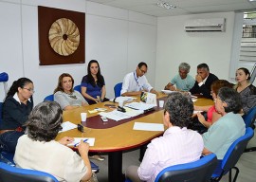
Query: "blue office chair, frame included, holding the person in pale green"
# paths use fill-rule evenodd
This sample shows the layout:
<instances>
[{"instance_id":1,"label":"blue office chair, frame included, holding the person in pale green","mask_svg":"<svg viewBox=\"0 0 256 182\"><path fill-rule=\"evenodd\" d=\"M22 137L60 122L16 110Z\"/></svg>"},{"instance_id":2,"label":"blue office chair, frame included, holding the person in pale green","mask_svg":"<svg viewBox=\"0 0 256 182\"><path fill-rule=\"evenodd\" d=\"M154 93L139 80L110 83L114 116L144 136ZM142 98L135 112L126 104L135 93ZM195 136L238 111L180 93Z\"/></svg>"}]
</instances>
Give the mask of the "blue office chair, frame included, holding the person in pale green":
<instances>
[{"instance_id":1,"label":"blue office chair, frame included, holding the person in pale green","mask_svg":"<svg viewBox=\"0 0 256 182\"><path fill-rule=\"evenodd\" d=\"M242 137L239 137L231 144L226 155L224 155L224 158L222 160L219 160L217 168L211 175L211 181L220 181L222 176L225 175L226 173L229 173L229 182L236 181L239 169L235 167L235 165L238 162L240 156L244 153L247 147L247 143L253 137L253 135L253 130L250 127L248 127L246 129L246 134ZM233 180L231 173L232 169L235 170Z\"/></svg>"}]
</instances>

